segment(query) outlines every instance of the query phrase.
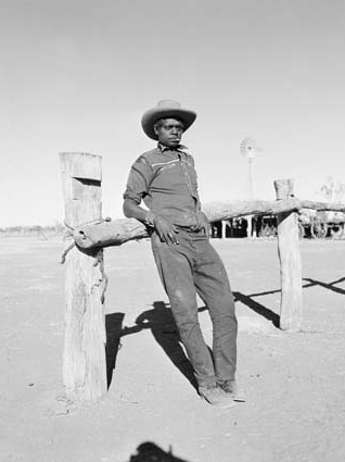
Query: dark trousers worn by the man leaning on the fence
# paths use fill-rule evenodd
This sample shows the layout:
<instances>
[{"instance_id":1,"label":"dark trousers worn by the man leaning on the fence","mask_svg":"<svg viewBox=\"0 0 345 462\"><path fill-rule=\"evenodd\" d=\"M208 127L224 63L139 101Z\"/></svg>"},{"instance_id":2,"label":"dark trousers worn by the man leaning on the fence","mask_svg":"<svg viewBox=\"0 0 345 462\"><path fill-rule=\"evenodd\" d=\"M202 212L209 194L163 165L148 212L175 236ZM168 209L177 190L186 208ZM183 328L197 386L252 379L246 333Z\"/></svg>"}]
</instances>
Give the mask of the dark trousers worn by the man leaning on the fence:
<instances>
[{"instance_id":1,"label":"dark trousers worn by the man leaning on the fence","mask_svg":"<svg viewBox=\"0 0 345 462\"><path fill-rule=\"evenodd\" d=\"M151 236L157 270L199 386L234 378L238 323L226 269L205 233L180 229L178 245ZM213 323L213 352L201 332L196 294Z\"/></svg>"}]
</instances>

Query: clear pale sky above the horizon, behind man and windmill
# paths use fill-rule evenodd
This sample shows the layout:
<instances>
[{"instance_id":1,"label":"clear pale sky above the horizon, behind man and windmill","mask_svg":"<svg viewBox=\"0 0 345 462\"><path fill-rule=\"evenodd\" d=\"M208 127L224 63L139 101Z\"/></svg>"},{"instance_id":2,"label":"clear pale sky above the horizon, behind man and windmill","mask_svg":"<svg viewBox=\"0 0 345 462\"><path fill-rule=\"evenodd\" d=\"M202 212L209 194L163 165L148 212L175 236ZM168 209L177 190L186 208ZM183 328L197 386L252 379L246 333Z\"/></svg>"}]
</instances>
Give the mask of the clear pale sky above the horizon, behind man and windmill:
<instances>
[{"instance_id":1,"label":"clear pale sky above the horizon, behind man and windmill","mask_svg":"<svg viewBox=\"0 0 345 462\"><path fill-rule=\"evenodd\" d=\"M0 227L64 220L60 152L102 157L103 215L123 217L144 111L194 110L183 143L203 203L273 180L320 199L345 183L344 0L0 0Z\"/></svg>"}]
</instances>

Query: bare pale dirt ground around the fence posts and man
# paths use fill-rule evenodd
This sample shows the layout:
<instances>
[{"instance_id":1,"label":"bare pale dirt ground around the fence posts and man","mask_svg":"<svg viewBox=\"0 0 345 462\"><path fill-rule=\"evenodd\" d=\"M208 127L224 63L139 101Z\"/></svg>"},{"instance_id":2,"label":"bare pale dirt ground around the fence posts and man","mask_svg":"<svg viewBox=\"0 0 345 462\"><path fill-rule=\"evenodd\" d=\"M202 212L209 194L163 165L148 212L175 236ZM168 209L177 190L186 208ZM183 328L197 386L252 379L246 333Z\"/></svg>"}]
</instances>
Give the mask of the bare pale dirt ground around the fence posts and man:
<instances>
[{"instance_id":1,"label":"bare pale dirt ground around the fence posts and man","mask_svg":"<svg viewBox=\"0 0 345 462\"><path fill-rule=\"evenodd\" d=\"M274 327L277 242L213 244L237 299L244 402L221 410L197 396L150 245L140 241L105 251L111 386L99 405L75 409L62 386L64 244L1 239L1 462L345 460L345 242L301 242L297 334Z\"/></svg>"}]
</instances>

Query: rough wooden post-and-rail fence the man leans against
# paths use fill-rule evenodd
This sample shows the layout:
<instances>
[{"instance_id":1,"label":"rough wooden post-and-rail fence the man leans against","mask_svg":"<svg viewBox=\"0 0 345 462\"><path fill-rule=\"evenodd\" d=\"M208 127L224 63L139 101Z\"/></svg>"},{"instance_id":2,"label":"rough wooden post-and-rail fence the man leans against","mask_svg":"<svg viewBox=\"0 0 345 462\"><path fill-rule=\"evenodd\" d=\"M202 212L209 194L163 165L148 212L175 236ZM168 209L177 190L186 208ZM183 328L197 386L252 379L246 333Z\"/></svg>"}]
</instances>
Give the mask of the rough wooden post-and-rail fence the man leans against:
<instances>
[{"instance_id":1,"label":"rough wooden post-and-rail fence the man leans against","mask_svg":"<svg viewBox=\"0 0 345 462\"><path fill-rule=\"evenodd\" d=\"M105 362L103 248L148 237L137 220L102 217L102 159L87 153L61 153L65 224L73 244L64 254L65 342L63 383L74 402L97 401L107 390ZM345 212L345 204L298 200L293 182L274 182L274 201L214 202L205 205L210 223L246 215L277 215L281 275L280 328L297 332L302 325L302 265L298 211Z\"/></svg>"}]
</instances>

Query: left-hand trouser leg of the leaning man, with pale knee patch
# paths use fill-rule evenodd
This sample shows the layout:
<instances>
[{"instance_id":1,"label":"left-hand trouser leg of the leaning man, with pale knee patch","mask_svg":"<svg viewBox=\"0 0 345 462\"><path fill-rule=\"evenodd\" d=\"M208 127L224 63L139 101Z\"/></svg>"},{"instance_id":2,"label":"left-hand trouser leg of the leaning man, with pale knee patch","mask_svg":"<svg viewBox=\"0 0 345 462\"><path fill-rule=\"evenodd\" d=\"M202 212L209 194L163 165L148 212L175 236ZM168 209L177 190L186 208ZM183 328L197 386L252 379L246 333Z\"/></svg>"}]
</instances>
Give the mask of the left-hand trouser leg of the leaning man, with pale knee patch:
<instances>
[{"instance_id":1,"label":"left-hand trouser leg of the leaning man, with pale knee patch","mask_svg":"<svg viewBox=\"0 0 345 462\"><path fill-rule=\"evenodd\" d=\"M216 380L215 369L199 324L196 290L188 246L183 245L181 237L179 240L178 246L167 246L153 235L153 254L197 384L208 385Z\"/></svg>"}]
</instances>

